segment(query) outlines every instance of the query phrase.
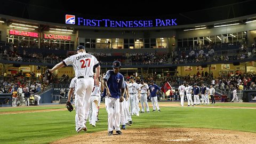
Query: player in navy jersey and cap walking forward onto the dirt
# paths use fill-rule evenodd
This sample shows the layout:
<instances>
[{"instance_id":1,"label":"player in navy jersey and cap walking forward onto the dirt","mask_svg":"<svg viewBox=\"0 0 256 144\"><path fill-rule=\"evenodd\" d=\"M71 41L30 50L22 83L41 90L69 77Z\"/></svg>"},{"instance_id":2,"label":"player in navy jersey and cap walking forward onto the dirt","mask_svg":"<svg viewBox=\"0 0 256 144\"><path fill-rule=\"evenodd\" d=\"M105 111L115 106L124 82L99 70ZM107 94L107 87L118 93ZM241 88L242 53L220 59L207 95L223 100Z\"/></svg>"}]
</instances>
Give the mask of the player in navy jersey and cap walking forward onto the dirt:
<instances>
[{"instance_id":1,"label":"player in navy jersey and cap walking forward onto the dirt","mask_svg":"<svg viewBox=\"0 0 256 144\"><path fill-rule=\"evenodd\" d=\"M120 129L120 102L124 100L125 91L124 76L119 73L121 62L114 61L112 67L113 70L108 70L103 77L103 85L107 95L105 105L108 113L109 136L113 135L114 127L117 134L122 134Z\"/></svg>"}]
</instances>

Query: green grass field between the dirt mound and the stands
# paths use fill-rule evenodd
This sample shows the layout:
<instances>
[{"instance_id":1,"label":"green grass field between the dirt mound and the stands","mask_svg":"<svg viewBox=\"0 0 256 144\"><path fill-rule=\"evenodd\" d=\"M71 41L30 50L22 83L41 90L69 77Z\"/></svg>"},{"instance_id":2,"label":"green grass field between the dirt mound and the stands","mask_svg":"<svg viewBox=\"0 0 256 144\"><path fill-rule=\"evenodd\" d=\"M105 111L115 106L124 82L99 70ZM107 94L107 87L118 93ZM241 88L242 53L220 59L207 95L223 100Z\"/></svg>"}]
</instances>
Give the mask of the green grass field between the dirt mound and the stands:
<instances>
[{"instance_id":1,"label":"green grass field between the dirt mound and the stands","mask_svg":"<svg viewBox=\"0 0 256 144\"><path fill-rule=\"evenodd\" d=\"M166 102L163 102L165 104ZM173 103L173 102L172 102ZM256 103L219 103L215 106L240 106ZM214 106L213 106L214 107ZM7 111L59 109L59 106L15 107L0 109ZM152 110L152 107L150 107ZM161 107L161 112L143 113L133 116L134 124L127 129L142 127L204 127L256 133L256 109L227 109L204 107ZM0 115L0 143L49 143L72 135L75 131L75 111L48 111L41 113ZM107 113L100 109L97 127L87 125L87 132L106 131ZM81 132L85 133L85 132ZM123 131L125 134L125 130Z\"/></svg>"}]
</instances>

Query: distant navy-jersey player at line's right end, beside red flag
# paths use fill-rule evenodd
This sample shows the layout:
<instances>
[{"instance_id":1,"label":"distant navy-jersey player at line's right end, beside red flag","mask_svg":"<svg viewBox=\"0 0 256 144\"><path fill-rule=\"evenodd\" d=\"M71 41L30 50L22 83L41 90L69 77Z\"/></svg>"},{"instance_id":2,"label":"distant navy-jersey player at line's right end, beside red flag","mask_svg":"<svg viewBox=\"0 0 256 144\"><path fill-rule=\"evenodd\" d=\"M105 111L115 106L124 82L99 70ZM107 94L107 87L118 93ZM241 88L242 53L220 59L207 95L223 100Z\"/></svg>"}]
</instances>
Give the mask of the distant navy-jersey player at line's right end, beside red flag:
<instances>
[{"instance_id":1,"label":"distant navy-jersey player at line's right end, beside red flag","mask_svg":"<svg viewBox=\"0 0 256 144\"><path fill-rule=\"evenodd\" d=\"M156 108L158 111L161 111L157 102L157 94L160 91L160 88L154 84L154 81L150 81L149 91L150 91L150 98L153 104L153 111L156 111Z\"/></svg>"}]
</instances>

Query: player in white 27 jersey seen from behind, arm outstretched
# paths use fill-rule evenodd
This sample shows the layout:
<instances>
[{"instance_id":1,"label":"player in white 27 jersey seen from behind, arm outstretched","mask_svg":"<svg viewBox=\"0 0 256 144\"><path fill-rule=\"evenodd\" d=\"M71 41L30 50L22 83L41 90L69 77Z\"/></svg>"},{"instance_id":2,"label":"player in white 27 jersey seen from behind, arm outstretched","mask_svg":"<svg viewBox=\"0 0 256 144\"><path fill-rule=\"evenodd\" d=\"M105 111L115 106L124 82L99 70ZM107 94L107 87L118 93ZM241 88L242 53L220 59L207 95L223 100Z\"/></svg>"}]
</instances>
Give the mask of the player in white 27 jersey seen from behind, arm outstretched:
<instances>
[{"instance_id":1,"label":"player in white 27 jersey seen from behind, arm outstretched","mask_svg":"<svg viewBox=\"0 0 256 144\"><path fill-rule=\"evenodd\" d=\"M93 68L95 68L95 83L99 85L100 65L99 61L91 54L85 52L83 45L77 46L77 54L71 55L62 62L55 65L50 72L58 70L64 66L73 65L76 76L76 117L78 119L78 129L76 132L87 130L85 126L85 117L89 115L89 98L92 93L94 78Z\"/></svg>"}]
</instances>

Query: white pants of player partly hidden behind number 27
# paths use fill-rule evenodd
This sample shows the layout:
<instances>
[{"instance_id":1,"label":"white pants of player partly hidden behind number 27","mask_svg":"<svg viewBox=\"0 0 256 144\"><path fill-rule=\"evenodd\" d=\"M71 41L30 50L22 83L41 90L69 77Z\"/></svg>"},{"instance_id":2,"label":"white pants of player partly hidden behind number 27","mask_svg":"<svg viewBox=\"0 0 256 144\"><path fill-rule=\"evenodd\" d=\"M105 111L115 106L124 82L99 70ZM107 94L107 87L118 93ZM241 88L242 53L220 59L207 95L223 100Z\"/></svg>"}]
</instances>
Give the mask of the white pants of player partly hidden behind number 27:
<instances>
[{"instance_id":1,"label":"white pants of player partly hidden behind number 27","mask_svg":"<svg viewBox=\"0 0 256 144\"><path fill-rule=\"evenodd\" d=\"M89 115L89 122L92 125L96 124L97 112L98 112L98 101L100 96L91 96L89 99L90 102L90 115ZM86 119L85 119L86 121Z\"/></svg>"}]
</instances>

